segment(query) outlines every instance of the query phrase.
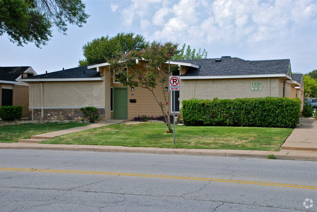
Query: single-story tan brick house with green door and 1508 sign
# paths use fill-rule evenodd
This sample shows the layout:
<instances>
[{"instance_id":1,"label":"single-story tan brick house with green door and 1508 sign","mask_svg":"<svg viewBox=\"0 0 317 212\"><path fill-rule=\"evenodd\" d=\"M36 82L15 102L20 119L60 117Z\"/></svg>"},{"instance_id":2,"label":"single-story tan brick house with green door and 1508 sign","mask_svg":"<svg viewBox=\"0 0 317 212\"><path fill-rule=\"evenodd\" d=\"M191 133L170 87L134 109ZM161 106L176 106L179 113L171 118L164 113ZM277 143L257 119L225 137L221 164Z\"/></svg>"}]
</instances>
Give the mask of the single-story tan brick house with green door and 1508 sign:
<instances>
[{"instance_id":1,"label":"single-story tan brick house with green door and 1508 sign","mask_svg":"<svg viewBox=\"0 0 317 212\"><path fill-rule=\"evenodd\" d=\"M142 70L141 63L146 61L139 60L136 69ZM302 77L292 78L289 59L248 61L222 57L170 63L178 65L180 72L176 112L181 101L190 98L278 96L299 97L303 101ZM123 86L111 77L113 74L109 63L101 63L22 79L30 86L30 117L78 120L82 118L80 108L87 106L98 108L101 120L161 116L151 92ZM164 87L168 87L167 81ZM155 90L158 100L163 102L164 92L168 92L160 87ZM172 104L169 106L173 111Z\"/></svg>"}]
</instances>

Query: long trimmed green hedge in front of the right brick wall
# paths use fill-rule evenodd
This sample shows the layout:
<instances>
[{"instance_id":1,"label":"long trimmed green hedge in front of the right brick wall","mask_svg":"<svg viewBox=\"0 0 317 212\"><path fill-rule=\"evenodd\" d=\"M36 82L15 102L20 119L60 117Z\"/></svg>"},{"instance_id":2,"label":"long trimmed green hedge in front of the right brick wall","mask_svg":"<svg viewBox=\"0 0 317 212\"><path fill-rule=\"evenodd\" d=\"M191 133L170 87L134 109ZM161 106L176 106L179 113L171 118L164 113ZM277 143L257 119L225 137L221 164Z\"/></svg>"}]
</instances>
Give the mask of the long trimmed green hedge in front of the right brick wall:
<instances>
[{"instance_id":1,"label":"long trimmed green hedge in front of the right brick wall","mask_svg":"<svg viewBox=\"0 0 317 212\"><path fill-rule=\"evenodd\" d=\"M187 126L252 126L294 128L299 123L299 98L265 97L182 101Z\"/></svg>"}]
</instances>

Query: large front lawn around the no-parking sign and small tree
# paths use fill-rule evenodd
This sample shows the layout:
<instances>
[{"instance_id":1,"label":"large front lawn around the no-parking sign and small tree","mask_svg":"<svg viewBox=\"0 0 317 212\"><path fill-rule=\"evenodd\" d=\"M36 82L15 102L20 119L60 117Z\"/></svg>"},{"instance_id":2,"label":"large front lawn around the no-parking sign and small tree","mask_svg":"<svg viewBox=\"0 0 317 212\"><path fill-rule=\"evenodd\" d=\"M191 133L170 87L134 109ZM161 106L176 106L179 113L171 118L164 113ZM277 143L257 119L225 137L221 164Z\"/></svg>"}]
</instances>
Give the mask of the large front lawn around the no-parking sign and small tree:
<instances>
[{"instance_id":1,"label":"large front lawn around the no-parking sign and small tree","mask_svg":"<svg viewBox=\"0 0 317 212\"><path fill-rule=\"evenodd\" d=\"M115 124L62 135L42 143L279 151L293 131L289 128L176 126L174 145L173 134L166 134L166 130L163 123Z\"/></svg>"}]
</instances>

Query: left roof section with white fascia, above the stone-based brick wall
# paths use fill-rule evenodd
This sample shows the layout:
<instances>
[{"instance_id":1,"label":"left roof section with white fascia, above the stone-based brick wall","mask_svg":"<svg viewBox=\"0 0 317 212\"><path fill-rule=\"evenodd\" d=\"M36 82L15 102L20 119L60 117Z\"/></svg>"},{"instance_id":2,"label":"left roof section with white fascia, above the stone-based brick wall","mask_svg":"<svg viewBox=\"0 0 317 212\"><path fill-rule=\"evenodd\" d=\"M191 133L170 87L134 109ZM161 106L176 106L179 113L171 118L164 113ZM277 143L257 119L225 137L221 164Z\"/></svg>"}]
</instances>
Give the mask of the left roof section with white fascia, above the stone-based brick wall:
<instances>
[{"instance_id":1,"label":"left roof section with white fascia, above the stone-based brick wall","mask_svg":"<svg viewBox=\"0 0 317 212\"><path fill-rule=\"evenodd\" d=\"M36 75L21 79L24 82L32 81L90 81L101 80L100 73L86 66L65 69L47 74Z\"/></svg>"}]
</instances>

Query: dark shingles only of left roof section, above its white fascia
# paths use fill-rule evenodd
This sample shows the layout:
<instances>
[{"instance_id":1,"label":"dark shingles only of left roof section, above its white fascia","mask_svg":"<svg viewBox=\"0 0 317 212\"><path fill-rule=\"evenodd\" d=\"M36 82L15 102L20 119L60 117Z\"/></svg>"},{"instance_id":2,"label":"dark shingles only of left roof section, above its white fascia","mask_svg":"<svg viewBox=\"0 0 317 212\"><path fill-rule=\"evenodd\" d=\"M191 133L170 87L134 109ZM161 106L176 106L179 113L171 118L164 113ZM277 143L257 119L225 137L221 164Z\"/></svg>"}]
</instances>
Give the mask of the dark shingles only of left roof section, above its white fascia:
<instances>
[{"instance_id":1,"label":"dark shingles only of left roof section, above its white fascia","mask_svg":"<svg viewBox=\"0 0 317 212\"><path fill-rule=\"evenodd\" d=\"M85 71L85 74L83 74ZM100 72L93 69L87 69L86 66L65 69L61 71L51 72L33 77L26 77L25 79L49 79L49 78L94 78L100 77Z\"/></svg>"}]
</instances>

